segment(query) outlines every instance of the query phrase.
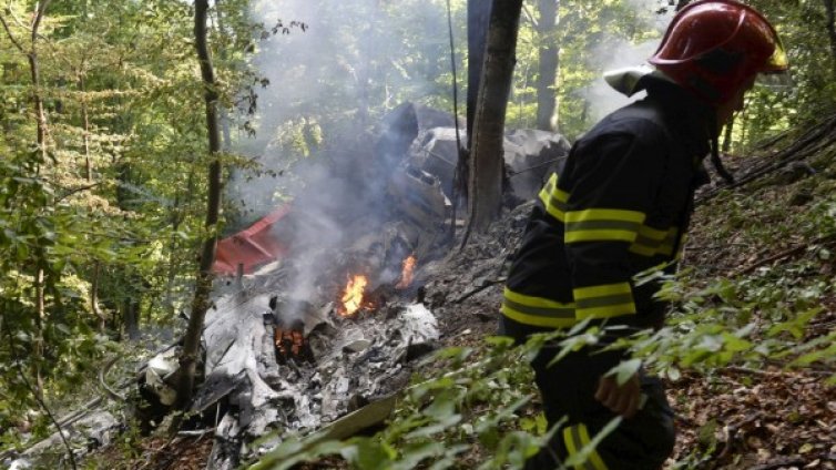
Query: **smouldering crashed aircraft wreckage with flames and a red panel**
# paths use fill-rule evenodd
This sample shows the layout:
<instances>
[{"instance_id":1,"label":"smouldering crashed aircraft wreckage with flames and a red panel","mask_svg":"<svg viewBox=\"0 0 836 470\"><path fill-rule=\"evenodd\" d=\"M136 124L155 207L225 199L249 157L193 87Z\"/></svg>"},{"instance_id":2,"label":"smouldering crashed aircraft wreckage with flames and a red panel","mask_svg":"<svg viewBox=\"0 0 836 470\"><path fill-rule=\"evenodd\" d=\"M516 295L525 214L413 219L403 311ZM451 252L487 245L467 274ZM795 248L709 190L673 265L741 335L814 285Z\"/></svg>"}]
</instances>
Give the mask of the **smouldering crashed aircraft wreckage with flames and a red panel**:
<instances>
[{"instance_id":1,"label":"smouldering crashed aircraft wreckage with flames and a red panel","mask_svg":"<svg viewBox=\"0 0 836 470\"><path fill-rule=\"evenodd\" d=\"M412 359L436 347L421 285L451 244L453 125L449 114L402 104L292 204L218 243L191 405L215 427L210 468L266 450L253 442L273 430L307 432L368 403L390 407ZM568 149L555 134L508 133L506 201L530 200ZM175 401L177 349L139 371L146 430Z\"/></svg>"}]
</instances>

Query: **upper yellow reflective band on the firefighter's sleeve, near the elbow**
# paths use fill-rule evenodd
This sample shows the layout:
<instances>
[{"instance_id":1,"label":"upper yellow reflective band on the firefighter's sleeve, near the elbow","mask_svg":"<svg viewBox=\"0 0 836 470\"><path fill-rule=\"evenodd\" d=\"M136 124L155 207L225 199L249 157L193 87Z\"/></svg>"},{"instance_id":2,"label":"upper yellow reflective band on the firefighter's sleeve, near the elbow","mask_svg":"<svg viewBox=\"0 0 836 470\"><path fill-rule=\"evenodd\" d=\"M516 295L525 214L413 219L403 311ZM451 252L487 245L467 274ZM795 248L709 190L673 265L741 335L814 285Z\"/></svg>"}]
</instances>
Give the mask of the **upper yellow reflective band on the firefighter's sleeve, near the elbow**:
<instances>
[{"instance_id":1,"label":"upper yellow reflective band on the firefighter's sleeve, near the elbow","mask_svg":"<svg viewBox=\"0 0 836 470\"><path fill-rule=\"evenodd\" d=\"M633 243L645 215L618 208L588 208L565 213L565 243Z\"/></svg>"}]
</instances>

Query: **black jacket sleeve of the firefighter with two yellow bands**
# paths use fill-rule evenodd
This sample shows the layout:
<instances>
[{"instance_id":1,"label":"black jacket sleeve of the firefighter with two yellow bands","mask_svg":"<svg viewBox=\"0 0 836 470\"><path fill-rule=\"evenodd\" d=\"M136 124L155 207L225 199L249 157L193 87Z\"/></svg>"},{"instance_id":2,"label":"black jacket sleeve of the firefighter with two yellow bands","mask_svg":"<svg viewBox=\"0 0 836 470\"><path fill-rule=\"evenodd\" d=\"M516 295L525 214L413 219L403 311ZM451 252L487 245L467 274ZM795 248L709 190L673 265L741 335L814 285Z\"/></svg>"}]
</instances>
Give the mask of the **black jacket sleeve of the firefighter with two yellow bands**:
<instances>
[{"instance_id":1,"label":"black jacket sleeve of the firefighter with two yellow bands","mask_svg":"<svg viewBox=\"0 0 836 470\"><path fill-rule=\"evenodd\" d=\"M643 238L661 236L644 221L664 152L652 132L606 133L583 141L568 162L561 177L568 195L564 249L577 319L636 314L629 253Z\"/></svg>"}]
</instances>

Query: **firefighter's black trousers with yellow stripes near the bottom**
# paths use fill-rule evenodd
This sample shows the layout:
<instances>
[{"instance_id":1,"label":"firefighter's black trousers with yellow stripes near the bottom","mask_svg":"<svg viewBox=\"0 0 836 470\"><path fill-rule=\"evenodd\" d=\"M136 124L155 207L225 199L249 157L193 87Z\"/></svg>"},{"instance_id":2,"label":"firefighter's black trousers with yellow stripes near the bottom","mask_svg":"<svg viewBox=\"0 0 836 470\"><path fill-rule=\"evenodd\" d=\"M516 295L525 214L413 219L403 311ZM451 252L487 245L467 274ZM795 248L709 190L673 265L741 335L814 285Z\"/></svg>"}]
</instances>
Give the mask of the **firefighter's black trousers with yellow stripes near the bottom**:
<instances>
[{"instance_id":1,"label":"firefighter's black trousers with yellow stripes near the bottom","mask_svg":"<svg viewBox=\"0 0 836 470\"><path fill-rule=\"evenodd\" d=\"M563 468L572 453L578 452L603 429L615 415L594 398L602 375L618 365L621 354L572 352L551 367L548 364L555 348L543 348L532 361L537 385L550 427L565 420L548 446L529 459L527 470ZM641 410L623 420L595 448L585 463L575 468L659 469L670 457L674 446L673 411L667 403L662 382L640 371L642 392L646 396Z\"/></svg>"}]
</instances>

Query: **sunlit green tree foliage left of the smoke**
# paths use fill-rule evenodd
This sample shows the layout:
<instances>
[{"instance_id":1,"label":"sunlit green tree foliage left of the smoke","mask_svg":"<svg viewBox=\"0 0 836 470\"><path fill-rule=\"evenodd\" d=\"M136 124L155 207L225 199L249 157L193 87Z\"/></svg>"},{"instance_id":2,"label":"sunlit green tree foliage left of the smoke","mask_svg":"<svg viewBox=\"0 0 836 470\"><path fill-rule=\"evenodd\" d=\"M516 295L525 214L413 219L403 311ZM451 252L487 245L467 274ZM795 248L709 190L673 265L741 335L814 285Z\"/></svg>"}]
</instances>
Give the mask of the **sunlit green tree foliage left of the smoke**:
<instances>
[{"instance_id":1,"label":"sunlit green tree foliage left of the smoke","mask_svg":"<svg viewBox=\"0 0 836 470\"><path fill-rule=\"evenodd\" d=\"M3 448L19 443L18 428L29 432L32 416L33 437L48 431L32 394L64 402L122 338L129 310L149 326L175 320L195 272L206 164L187 3L50 3L35 40L37 90L11 42L29 39L22 19L31 2L8 3L10 31L0 34ZM215 33L228 50L218 61L221 92L232 103L254 75L242 43L256 28L248 2L218 4L213 14L225 28ZM35 92L45 102L45 159L33 145Z\"/></svg>"}]
</instances>

